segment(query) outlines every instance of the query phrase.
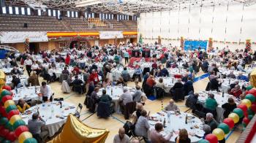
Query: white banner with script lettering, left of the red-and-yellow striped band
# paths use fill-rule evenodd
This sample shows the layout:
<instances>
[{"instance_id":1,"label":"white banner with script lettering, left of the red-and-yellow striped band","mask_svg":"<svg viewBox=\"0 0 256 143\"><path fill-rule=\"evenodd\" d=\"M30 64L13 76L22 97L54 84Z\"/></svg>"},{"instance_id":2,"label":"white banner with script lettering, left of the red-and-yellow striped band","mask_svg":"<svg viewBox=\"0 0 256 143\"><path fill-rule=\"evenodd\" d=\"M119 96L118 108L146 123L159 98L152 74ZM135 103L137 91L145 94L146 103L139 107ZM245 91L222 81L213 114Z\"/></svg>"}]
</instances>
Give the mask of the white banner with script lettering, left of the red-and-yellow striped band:
<instances>
[{"instance_id":1,"label":"white banner with script lettering, left of the red-and-yellow striped band","mask_svg":"<svg viewBox=\"0 0 256 143\"><path fill-rule=\"evenodd\" d=\"M48 42L47 32L0 32L1 44L22 43L26 39L29 39L29 42Z\"/></svg>"}]
</instances>

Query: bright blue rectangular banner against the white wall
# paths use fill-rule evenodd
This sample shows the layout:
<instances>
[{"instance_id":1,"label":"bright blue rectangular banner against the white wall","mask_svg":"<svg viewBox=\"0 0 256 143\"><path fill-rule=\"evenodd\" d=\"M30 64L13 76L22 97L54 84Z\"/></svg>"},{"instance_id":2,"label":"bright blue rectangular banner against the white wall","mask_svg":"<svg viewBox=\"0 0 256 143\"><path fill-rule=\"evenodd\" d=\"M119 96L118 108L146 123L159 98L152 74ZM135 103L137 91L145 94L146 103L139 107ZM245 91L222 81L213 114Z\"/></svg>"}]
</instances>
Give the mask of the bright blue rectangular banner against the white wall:
<instances>
[{"instance_id":1,"label":"bright blue rectangular banner against the white wall","mask_svg":"<svg viewBox=\"0 0 256 143\"><path fill-rule=\"evenodd\" d=\"M207 49L207 41L185 41L184 42L184 50L195 50L201 47L201 50Z\"/></svg>"}]
</instances>

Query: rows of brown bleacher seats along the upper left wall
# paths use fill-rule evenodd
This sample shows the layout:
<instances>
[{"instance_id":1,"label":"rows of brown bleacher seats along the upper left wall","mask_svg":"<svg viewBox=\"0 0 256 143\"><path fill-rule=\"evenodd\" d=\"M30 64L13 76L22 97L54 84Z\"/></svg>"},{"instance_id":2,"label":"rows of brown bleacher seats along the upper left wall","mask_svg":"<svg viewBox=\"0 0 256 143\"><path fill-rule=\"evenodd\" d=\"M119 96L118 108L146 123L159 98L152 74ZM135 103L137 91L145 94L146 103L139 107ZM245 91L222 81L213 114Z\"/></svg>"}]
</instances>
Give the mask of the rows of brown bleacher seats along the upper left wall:
<instances>
[{"instance_id":1,"label":"rows of brown bleacher seats along the upper left wall","mask_svg":"<svg viewBox=\"0 0 256 143\"><path fill-rule=\"evenodd\" d=\"M24 28L24 23L28 28ZM95 26L89 26L90 23ZM113 25L113 28L112 26ZM0 15L0 31L137 31L136 21L99 20L99 18L62 18L34 15Z\"/></svg>"}]
</instances>

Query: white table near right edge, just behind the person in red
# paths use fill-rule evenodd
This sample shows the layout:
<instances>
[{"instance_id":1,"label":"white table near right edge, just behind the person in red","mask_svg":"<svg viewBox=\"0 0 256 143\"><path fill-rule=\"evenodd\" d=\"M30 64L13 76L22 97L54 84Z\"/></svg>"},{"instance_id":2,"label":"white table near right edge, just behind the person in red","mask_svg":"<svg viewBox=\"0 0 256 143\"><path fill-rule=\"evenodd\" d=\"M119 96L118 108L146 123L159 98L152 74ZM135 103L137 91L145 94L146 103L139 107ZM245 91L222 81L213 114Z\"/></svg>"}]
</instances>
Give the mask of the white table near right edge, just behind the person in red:
<instances>
[{"instance_id":1,"label":"white table near right edge, just behind the person in red","mask_svg":"<svg viewBox=\"0 0 256 143\"><path fill-rule=\"evenodd\" d=\"M236 82L236 79L222 79L222 90L224 91L224 93L227 93L227 91L230 89L230 84L233 84ZM246 82L244 80L238 80L238 85L240 85L240 88L247 87L249 85L249 82Z\"/></svg>"}]
</instances>

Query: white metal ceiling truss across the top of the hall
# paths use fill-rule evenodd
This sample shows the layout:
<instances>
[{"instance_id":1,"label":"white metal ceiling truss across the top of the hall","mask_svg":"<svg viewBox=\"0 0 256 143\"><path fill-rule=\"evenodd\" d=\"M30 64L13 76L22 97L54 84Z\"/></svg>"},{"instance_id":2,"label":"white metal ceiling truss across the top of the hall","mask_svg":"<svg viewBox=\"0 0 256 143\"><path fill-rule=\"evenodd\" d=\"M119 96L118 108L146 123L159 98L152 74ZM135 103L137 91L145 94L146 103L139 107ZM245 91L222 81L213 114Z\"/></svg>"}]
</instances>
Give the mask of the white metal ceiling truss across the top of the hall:
<instances>
[{"instance_id":1,"label":"white metal ceiling truss across the top of the hall","mask_svg":"<svg viewBox=\"0 0 256 143\"><path fill-rule=\"evenodd\" d=\"M256 0L7 0L10 4L23 2L32 8L87 9L91 12L137 15L143 12L159 12L194 7L223 6L227 3L250 6Z\"/></svg>"}]
</instances>

